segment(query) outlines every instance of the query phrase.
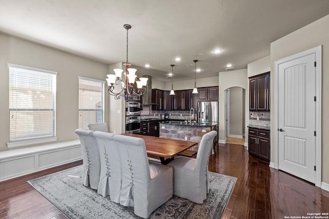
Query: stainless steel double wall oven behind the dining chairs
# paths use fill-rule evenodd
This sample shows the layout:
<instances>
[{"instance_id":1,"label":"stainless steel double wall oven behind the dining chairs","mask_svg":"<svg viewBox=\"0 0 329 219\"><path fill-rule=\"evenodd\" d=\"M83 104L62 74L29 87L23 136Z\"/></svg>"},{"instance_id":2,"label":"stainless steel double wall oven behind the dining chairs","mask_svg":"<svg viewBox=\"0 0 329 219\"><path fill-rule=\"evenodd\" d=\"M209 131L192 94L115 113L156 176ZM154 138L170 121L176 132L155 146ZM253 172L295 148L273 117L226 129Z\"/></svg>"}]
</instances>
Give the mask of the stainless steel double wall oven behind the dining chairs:
<instances>
[{"instance_id":1,"label":"stainless steel double wall oven behind the dining chairs","mask_svg":"<svg viewBox=\"0 0 329 219\"><path fill-rule=\"evenodd\" d=\"M140 103L125 103L125 133L140 133Z\"/></svg>"}]
</instances>

